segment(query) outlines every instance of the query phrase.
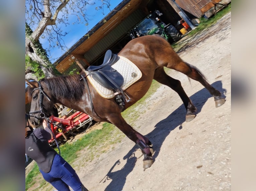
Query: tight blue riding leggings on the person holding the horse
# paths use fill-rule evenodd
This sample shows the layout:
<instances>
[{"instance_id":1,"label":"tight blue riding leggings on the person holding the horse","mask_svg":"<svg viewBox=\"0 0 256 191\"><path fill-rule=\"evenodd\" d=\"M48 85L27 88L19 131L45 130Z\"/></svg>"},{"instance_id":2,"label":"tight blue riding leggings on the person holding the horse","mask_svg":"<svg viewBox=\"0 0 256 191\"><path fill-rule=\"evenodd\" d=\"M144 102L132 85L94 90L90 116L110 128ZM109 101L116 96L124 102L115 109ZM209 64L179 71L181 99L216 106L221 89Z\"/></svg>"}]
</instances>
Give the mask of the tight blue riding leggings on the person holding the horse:
<instances>
[{"instance_id":1,"label":"tight blue riding leggings on the person holding the horse","mask_svg":"<svg viewBox=\"0 0 256 191\"><path fill-rule=\"evenodd\" d=\"M54 156L50 172L45 173L42 170L40 172L43 178L58 191L70 191L69 186L74 191L82 190L82 182L76 171L58 154Z\"/></svg>"}]
</instances>

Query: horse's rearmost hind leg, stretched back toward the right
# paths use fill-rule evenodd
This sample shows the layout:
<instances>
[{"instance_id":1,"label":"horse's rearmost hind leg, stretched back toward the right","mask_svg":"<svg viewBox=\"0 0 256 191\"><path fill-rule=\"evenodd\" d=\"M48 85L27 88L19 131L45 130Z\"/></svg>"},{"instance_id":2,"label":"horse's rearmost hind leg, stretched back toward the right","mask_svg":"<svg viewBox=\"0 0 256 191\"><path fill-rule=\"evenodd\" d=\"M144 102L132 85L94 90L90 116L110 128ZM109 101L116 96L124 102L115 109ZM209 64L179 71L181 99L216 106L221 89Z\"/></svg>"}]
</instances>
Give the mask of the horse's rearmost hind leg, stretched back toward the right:
<instances>
[{"instance_id":1,"label":"horse's rearmost hind leg, stretched back toward the right","mask_svg":"<svg viewBox=\"0 0 256 191\"><path fill-rule=\"evenodd\" d=\"M205 76L195 66L181 61L179 64L174 66L171 65L170 67L167 65L167 67L179 71L187 75L189 78L200 82L210 92L210 94L214 96L216 107L219 107L225 103L226 100L222 97L221 93L206 81Z\"/></svg>"}]
</instances>

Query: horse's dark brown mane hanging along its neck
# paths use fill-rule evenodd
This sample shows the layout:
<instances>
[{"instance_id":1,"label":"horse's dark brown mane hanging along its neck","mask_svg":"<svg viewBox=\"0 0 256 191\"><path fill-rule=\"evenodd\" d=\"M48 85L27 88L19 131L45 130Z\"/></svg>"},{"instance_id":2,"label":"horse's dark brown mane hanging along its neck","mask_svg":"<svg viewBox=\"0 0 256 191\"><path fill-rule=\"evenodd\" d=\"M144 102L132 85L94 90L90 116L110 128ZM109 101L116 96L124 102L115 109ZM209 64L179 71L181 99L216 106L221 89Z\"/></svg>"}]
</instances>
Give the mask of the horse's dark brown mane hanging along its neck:
<instances>
[{"instance_id":1,"label":"horse's dark brown mane hanging along its neck","mask_svg":"<svg viewBox=\"0 0 256 191\"><path fill-rule=\"evenodd\" d=\"M80 75L60 76L42 79L49 91L60 98L79 100L83 96L85 84L80 81Z\"/></svg>"}]
</instances>

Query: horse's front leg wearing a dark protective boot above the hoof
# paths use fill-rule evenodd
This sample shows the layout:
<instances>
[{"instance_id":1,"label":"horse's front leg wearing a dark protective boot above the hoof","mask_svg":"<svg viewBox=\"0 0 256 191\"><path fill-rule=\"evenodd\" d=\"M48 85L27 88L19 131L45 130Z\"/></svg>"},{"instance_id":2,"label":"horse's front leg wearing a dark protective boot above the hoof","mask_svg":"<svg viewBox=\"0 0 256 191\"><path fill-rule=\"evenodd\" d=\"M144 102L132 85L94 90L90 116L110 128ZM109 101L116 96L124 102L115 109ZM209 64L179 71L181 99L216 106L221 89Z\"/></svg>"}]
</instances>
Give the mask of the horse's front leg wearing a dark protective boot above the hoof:
<instances>
[{"instance_id":1,"label":"horse's front leg wearing a dark protective boot above the hoof","mask_svg":"<svg viewBox=\"0 0 256 191\"><path fill-rule=\"evenodd\" d=\"M116 125L129 139L138 144L141 152L144 156L143 159L143 168L149 168L154 160L152 158L152 154L154 150L152 148L152 144L147 137L135 131L122 117L122 115L118 115L118 117L111 117L108 119L109 122Z\"/></svg>"}]
</instances>

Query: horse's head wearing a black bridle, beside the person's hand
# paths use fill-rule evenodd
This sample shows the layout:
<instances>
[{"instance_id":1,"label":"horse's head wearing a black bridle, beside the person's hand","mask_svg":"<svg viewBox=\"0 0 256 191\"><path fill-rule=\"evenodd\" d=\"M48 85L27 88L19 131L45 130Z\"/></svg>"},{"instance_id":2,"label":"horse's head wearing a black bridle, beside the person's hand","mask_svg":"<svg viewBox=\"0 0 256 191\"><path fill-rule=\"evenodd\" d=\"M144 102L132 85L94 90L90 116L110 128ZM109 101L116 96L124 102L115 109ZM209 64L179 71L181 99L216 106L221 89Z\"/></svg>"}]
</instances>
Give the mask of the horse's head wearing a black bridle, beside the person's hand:
<instances>
[{"instance_id":1,"label":"horse's head wearing a black bridle, beside the person's hand","mask_svg":"<svg viewBox=\"0 0 256 191\"><path fill-rule=\"evenodd\" d=\"M30 120L35 126L39 126L45 117L57 115L57 109L53 106L54 102L50 99L49 91L42 87L40 82L26 81L28 94L31 100Z\"/></svg>"}]
</instances>

